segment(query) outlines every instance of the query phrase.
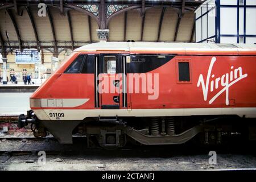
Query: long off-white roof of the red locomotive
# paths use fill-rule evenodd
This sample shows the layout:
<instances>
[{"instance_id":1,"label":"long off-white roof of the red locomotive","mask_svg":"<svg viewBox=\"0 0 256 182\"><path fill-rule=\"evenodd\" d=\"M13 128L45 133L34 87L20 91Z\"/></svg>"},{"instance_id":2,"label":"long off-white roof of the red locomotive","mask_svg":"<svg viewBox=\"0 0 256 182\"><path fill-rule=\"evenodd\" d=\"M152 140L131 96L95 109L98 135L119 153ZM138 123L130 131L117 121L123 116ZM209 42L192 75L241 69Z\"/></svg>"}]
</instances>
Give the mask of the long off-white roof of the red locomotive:
<instances>
[{"instance_id":1,"label":"long off-white roof of the red locomotive","mask_svg":"<svg viewBox=\"0 0 256 182\"><path fill-rule=\"evenodd\" d=\"M250 51L256 54L256 44L98 42L74 51Z\"/></svg>"}]
</instances>

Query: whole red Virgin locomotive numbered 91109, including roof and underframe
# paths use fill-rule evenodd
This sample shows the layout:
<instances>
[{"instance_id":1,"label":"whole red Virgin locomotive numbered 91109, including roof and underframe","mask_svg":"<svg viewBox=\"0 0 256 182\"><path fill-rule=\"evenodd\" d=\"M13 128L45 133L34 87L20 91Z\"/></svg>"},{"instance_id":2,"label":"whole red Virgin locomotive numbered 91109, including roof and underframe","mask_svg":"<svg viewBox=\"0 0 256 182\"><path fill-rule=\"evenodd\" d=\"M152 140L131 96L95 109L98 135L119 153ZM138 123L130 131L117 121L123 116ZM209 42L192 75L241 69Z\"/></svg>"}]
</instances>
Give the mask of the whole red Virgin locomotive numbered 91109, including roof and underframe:
<instances>
[{"instance_id":1,"label":"whole red Virgin locomotive numbered 91109, including roof and underframe","mask_svg":"<svg viewBox=\"0 0 256 182\"><path fill-rule=\"evenodd\" d=\"M102 147L255 139L256 45L100 42L71 57L30 98L36 137L72 134Z\"/></svg>"}]
</instances>

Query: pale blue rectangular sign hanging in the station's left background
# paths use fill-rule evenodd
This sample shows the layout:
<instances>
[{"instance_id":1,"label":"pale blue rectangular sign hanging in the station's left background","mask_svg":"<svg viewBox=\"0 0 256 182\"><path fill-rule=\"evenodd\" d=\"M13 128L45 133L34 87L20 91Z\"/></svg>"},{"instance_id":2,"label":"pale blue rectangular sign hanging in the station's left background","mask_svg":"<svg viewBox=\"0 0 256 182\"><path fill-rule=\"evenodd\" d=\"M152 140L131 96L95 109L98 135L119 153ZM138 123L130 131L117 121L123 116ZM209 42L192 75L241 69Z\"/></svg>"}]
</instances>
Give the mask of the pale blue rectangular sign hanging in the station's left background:
<instances>
[{"instance_id":1,"label":"pale blue rectangular sign hanging in the station's left background","mask_svg":"<svg viewBox=\"0 0 256 182\"><path fill-rule=\"evenodd\" d=\"M37 50L15 51L15 62L18 64L35 64L41 63L41 56Z\"/></svg>"}]
</instances>

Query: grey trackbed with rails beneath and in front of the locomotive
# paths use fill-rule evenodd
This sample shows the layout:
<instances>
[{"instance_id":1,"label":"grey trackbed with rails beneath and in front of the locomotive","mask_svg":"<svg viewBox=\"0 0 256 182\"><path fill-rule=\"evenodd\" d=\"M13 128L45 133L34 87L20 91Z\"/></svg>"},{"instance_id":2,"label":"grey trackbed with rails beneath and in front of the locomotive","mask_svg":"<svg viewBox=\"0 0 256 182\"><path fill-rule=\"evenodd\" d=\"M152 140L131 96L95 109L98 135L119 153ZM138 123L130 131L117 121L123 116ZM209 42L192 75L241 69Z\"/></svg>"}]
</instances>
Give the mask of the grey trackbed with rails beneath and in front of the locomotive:
<instances>
[{"instance_id":1,"label":"grey trackbed with rails beneath and in front of the locomotive","mask_svg":"<svg viewBox=\"0 0 256 182\"><path fill-rule=\"evenodd\" d=\"M59 144L53 137L0 138L0 170L113 170L117 166L120 170L134 170L134 166L142 170L256 170L254 152L244 154L233 150L216 150L217 165L209 165L208 152L215 148L202 149L191 144L158 147L128 144L110 151L100 147L88 148L85 137L73 137L73 142ZM39 151L46 152L47 163L44 167L38 164Z\"/></svg>"}]
</instances>

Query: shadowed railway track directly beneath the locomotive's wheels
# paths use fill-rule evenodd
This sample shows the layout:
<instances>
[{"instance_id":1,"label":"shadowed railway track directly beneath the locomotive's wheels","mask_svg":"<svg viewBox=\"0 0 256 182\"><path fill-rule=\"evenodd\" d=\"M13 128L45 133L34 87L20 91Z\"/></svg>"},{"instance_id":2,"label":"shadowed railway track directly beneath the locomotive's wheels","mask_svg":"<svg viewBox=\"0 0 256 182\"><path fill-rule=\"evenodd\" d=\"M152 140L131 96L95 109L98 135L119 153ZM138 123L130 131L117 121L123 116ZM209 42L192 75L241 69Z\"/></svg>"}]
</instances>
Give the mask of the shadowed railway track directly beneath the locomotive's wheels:
<instances>
[{"instance_id":1,"label":"shadowed railway track directly beneath the locomotive's wheels","mask_svg":"<svg viewBox=\"0 0 256 182\"><path fill-rule=\"evenodd\" d=\"M255 143L254 143L255 144ZM193 142L187 142L179 145L162 145L162 146L144 146L134 143L127 143L125 147L119 148L116 151L159 151L162 154L166 154L168 151L181 152L181 154L200 154L209 150L220 151L221 153L246 153L251 152L254 154L255 150L252 150L250 144L237 144L230 143L229 146L200 146ZM35 137L0 137L0 153L4 152L17 152L17 151L113 151L105 150L104 148L95 146L94 148L88 148L86 144L85 136L73 136L73 144L60 144L54 137L47 136L42 138Z\"/></svg>"}]
</instances>

